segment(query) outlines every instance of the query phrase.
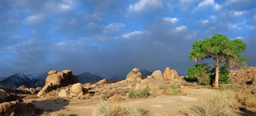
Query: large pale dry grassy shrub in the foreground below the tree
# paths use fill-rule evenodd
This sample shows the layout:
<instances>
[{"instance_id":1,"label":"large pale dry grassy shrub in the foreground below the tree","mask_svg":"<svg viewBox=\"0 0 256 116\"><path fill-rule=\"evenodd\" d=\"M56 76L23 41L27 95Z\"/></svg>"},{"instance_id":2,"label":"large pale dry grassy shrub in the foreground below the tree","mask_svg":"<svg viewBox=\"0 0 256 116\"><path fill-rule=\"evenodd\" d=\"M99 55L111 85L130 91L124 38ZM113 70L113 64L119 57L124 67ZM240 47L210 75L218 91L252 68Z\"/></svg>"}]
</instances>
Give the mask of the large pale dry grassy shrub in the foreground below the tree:
<instances>
[{"instance_id":1,"label":"large pale dry grassy shrub in the foreground below the tree","mask_svg":"<svg viewBox=\"0 0 256 116\"><path fill-rule=\"evenodd\" d=\"M232 91L217 91L199 98L198 104L188 108L187 115L227 115L235 102Z\"/></svg>"}]
</instances>

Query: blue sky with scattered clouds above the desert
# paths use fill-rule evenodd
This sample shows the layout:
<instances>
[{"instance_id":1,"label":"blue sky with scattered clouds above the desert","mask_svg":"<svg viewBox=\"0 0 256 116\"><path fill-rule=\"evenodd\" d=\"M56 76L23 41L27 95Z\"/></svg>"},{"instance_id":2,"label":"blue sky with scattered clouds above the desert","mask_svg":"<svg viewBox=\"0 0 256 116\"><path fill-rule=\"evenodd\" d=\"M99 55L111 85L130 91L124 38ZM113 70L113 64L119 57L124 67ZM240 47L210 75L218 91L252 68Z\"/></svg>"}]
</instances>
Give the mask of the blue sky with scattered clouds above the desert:
<instances>
[{"instance_id":1,"label":"blue sky with scattered clouds above the desert","mask_svg":"<svg viewBox=\"0 0 256 116\"><path fill-rule=\"evenodd\" d=\"M256 66L255 0L0 0L0 76L49 70L126 75L133 68L186 75L197 40L247 44Z\"/></svg>"}]
</instances>

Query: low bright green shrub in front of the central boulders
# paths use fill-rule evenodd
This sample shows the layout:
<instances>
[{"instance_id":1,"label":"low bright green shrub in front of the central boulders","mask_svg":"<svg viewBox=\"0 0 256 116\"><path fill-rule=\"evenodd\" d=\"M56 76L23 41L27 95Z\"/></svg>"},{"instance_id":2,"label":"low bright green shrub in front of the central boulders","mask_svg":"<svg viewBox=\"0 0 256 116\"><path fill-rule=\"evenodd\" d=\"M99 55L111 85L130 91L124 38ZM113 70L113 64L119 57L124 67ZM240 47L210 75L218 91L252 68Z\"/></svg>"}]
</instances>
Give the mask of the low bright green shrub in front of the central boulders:
<instances>
[{"instance_id":1,"label":"low bright green shrub in front of the central boulders","mask_svg":"<svg viewBox=\"0 0 256 116\"><path fill-rule=\"evenodd\" d=\"M149 97L150 90L151 90L150 88L142 88L139 90L130 90L127 92L127 97L130 99L131 98L146 98L146 97Z\"/></svg>"}]
</instances>

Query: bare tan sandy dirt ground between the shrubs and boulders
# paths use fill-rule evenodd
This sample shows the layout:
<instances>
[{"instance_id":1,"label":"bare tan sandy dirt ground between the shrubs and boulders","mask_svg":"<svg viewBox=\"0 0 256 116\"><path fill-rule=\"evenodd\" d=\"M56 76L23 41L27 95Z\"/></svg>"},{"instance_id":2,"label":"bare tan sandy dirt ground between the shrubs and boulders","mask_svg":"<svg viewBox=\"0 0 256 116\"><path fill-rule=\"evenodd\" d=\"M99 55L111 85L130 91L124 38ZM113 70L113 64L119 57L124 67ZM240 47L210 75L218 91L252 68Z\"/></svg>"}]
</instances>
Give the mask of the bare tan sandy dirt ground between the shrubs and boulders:
<instances>
[{"instance_id":1,"label":"bare tan sandy dirt ground between the shrubs and boulders","mask_svg":"<svg viewBox=\"0 0 256 116\"><path fill-rule=\"evenodd\" d=\"M196 104L199 97L205 93L214 92L211 89L185 89L188 95L157 96L153 98L127 99L110 104L120 106L137 106L148 111L149 115L184 115L186 107ZM31 100L31 99L30 99ZM51 115L79 114L91 115L97 105L90 99L36 99L33 102L37 108L51 110Z\"/></svg>"}]
</instances>

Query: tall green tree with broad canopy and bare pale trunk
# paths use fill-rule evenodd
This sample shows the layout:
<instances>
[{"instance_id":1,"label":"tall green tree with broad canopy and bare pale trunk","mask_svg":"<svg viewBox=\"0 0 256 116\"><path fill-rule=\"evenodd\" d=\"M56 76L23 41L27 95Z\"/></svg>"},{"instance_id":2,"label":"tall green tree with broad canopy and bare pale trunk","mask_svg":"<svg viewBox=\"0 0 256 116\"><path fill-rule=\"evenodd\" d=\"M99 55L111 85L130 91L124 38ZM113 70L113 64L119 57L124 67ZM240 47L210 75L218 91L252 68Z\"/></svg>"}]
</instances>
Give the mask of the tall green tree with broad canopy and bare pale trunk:
<instances>
[{"instance_id":1,"label":"tall green tree with broad canopy and bare pale trunk","mask_svg":"<svg viewBox=\"0 0 256 116\"><path fill-rule=\"evenodd\" d=\"M245 52L246 44L240 39L230 40L221 34L215 34L210 39L196 41L189 57L192 61L202 62L205 59L213 59L215 66L215 87L219 86L219 68L228 66L230 68L246 67L246 58L240 56Z\"/></svg>"}]
</instances>

